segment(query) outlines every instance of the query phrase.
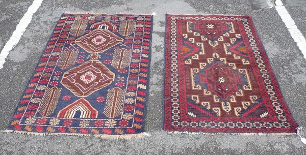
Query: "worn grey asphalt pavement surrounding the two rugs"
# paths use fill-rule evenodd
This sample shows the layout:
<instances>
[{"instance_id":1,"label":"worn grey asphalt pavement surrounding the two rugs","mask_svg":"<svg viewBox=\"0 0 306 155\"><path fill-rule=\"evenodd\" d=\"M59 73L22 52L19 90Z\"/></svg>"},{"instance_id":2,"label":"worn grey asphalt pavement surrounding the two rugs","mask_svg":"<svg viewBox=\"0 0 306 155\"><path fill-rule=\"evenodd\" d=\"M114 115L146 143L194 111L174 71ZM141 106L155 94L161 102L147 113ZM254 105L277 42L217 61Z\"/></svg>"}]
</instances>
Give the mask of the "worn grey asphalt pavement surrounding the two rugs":
<instances>
[{"instance_id":1,"label":"worn grey asphalt pavement surrounding the two rugs","mask_svg":"<svg viewBox=\"0 0 306 155\"><path fill-rule=\"evenodd\" d=\"M56 22L63 12L133 13L154 16L145 139L33 136L0 132L0 154L306 154L298 136L170 135L162 131L165 14L251 15L284 98L300 126L306 127L306 61L275 8L261 0L45 0L0 70L0 129L18 104ZM32 1L0 0L0 50ZM306 36L306 2L283 0ZM272 1L273 4L273 1Z\"/></svg>"}]
</instances>

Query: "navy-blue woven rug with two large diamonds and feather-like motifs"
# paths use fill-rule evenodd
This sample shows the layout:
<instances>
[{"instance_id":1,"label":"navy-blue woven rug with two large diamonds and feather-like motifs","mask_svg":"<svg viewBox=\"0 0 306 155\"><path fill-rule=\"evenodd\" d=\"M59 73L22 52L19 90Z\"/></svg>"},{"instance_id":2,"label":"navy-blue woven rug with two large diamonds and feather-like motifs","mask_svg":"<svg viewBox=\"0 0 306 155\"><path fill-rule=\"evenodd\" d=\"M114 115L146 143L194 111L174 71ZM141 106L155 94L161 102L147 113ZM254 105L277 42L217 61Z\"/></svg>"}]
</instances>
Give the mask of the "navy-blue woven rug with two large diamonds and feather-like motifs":
<instances>
[{"instance_id":1,"label":"navy-blue woven rug with two large diamonds and feather-like motifs","mask_svg":"<svg viewBox=\"0 0 306 155\"><path fill-rule=\"evenodd\" d=\"M145 136L151 20L63 14L7 132Z\"/></svg>"}]
</instances>

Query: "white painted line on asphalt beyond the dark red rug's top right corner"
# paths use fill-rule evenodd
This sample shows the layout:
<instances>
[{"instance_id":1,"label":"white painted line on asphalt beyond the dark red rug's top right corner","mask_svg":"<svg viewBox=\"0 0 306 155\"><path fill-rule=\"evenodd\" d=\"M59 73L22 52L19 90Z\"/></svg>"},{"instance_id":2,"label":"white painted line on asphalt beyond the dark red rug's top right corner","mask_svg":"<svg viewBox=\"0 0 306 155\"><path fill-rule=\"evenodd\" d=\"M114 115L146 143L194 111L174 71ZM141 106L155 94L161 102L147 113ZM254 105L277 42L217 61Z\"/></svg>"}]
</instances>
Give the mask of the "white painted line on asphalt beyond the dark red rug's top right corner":
<instances>
[{"instance_id":1,"label":"white painted line on asphalt beyond the dark red rug's top right corner","mask_svg":"<svg viewBox=\"0 0 306 155\"><path fill-rule=\"evenodd\" d=\"M275 9L278 12L278 15L281 16L283 22L290 32L291 37L296 42L298 48L301 50L304 58L306 59L306 39L295 25L294 20L291 18L281 0L275 1Z\"/></svg>"}]
</instances>

